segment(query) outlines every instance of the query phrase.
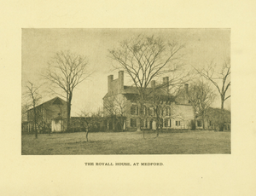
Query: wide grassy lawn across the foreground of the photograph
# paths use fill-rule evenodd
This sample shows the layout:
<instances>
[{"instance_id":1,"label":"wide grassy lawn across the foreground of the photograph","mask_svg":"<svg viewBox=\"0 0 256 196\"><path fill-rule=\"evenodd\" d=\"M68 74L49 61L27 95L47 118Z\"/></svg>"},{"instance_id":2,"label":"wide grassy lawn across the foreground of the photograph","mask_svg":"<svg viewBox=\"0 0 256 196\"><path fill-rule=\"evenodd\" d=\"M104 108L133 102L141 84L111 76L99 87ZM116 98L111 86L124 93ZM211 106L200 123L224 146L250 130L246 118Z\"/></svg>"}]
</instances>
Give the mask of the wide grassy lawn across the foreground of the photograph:
<instances>
[{"instance_id":1,"label":"wide grassy lawn across the foreground of the photograph","mask_svg":"<svg viewBox=\"0 0 256 196\"><path fill-rule=\"evenodd\" d=\"M231 153L230 132L189 130L160 133L105 132L21 136L21 154L210 154Z\"/></svg>"}]
</instances>

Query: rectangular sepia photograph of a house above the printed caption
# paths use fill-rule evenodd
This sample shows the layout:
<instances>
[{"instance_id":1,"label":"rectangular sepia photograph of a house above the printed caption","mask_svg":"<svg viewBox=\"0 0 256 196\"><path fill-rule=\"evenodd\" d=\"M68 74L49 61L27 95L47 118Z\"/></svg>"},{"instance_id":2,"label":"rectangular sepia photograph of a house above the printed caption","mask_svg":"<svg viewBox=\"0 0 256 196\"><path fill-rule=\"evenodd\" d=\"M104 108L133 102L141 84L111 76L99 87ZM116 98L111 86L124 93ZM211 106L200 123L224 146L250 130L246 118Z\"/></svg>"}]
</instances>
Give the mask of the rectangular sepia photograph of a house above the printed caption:
<instances>
[{"instance_id":1,"label":"rectangular sepia photograph of a house above the printed caption","mask_svg":"<svg viewBox=\"0 0 256 196\"><path fill-rule=\"evenodd\" d=\"M228 28L23 28L21 155L230 154Z\"/></svg>"}]
</instances>

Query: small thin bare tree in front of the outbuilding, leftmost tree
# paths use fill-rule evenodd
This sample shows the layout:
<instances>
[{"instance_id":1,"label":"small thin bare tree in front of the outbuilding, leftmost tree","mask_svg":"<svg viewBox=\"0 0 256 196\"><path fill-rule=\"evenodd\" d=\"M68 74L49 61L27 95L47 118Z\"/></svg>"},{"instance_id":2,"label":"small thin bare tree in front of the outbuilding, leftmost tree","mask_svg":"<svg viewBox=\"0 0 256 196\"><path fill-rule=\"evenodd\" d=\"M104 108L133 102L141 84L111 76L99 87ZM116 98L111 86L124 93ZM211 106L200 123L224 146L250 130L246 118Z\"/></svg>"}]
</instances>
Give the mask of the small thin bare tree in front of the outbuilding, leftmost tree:
<instances>
[{"instance_id":1,"label":"small thin bare tree in front of the outbuilding, leftmost tree","mask_svg":"<svg viewBox=\"0 0 256 196\"><path fill-rule=\"evenodd\" d=\"M26 84L26 93L25 93L26 106L32 107L32 110L33 110L33 125L34 125L36 138L38 138L38 130L37 130L38 111L36 109L36 106L42 99L42 96L38 92L39 88L40 86L36 86L32 82L28 81Z\"/></svg>"}]
</instances>

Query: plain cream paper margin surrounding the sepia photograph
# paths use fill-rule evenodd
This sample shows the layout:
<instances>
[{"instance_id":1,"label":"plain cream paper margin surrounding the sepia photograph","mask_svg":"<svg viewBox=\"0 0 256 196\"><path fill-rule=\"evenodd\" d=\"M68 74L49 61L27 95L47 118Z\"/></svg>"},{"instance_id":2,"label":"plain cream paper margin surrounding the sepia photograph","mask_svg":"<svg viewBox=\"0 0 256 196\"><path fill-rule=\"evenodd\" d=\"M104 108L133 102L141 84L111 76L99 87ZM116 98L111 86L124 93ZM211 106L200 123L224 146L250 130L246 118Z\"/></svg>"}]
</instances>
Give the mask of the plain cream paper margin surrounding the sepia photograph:
<instances>
[{"instance_id":1,"label":"plain cream paper margin surrounding the sepia photograph","mask_svg":"<svg viewBox=\"0 0 256 196\"><path fill-rule=\"evenodd\" d=\"M1 195L256 195L255 1L1 1ZM21 156L21 28L230 28L231 154ZM85 166L162 162L164 166Z\"/></svg>"}]
</instances>

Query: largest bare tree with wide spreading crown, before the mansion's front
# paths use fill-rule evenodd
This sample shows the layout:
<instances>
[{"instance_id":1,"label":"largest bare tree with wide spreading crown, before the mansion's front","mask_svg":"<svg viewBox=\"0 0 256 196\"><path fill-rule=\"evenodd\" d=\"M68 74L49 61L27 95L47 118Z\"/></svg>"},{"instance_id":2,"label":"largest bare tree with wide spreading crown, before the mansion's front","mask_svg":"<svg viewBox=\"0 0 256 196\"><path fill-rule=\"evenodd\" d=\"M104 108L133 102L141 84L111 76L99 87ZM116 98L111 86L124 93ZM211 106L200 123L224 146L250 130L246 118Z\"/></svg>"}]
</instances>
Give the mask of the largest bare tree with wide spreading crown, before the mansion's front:
<instances>
[{"instance_id":1,"label":"largest bare tree with wide spreading crown, before the mansion's front","mask_svg":"<svg viewBox=\"0 0 256 196\"><path fill-rule=\"evenodd\" d=\"M177 70L183 48L184 45L166 43L160 37L139 35L121 42L118 49L109 50L110 58L118 62L113 66L124 70L137 88L139 112L147 96L148 84L154 78ZM141 127L140 116L138 113L138 131Z\"/></svg>"}]
</instances>

